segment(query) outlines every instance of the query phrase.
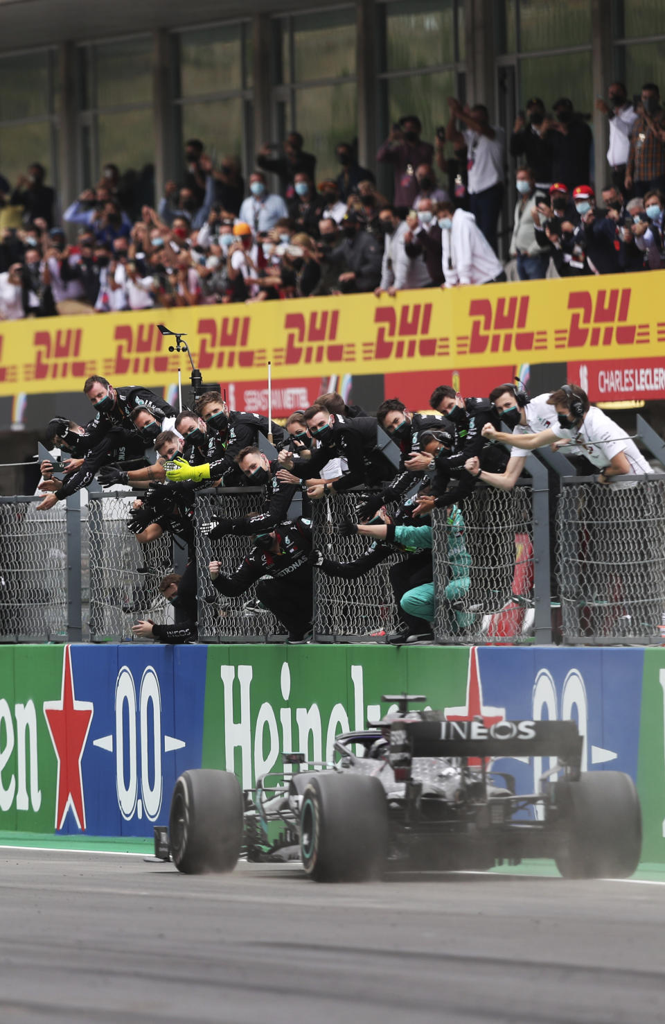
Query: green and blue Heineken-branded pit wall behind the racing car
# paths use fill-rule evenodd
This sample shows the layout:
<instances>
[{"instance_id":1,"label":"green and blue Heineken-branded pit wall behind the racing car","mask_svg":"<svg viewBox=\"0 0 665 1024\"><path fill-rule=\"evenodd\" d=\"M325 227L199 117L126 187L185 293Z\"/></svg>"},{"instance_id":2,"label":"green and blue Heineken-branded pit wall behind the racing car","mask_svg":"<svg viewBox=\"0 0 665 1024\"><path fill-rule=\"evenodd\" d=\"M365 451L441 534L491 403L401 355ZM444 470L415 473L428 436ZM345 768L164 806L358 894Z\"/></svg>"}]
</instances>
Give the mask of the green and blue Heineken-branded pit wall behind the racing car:
<instances>
[{"instance_id":1,"label":"green and blue Heineken-branded pit wall behind the racing car","mask_svg":"<svg viewBox=\"0 0 665 1024\"><path fill-rule=\"evenodd\" d=\"M642 858L665 862L663 648L0 646L0 830L150 836L186 768L249 786L282 750L325 759L403 690L486 725L576 719L583 768L635 779ZM533 792L540 760L495 767Z\"/></svg>"}]
</instances>

